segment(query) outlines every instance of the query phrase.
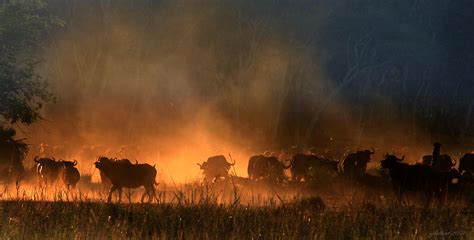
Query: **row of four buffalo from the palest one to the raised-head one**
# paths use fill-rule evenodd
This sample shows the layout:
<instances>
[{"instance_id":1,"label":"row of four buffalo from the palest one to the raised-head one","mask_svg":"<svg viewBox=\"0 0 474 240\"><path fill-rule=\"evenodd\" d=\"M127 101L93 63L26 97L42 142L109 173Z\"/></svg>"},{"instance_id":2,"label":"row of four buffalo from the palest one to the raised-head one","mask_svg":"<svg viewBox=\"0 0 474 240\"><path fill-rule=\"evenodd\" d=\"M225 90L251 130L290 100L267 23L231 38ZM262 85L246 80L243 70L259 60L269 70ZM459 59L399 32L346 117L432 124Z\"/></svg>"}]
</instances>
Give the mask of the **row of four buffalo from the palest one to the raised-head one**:
<instances>
[{"instance_id":1,"label":"row of four buffalo from the palest one to the raised-head one","mask_svg":"<svg viewBox=\"0 0 474 240\"><path fill-rule=\"evenodd\" d=\"M335 176L341 172L347 177L357 178L366 174L367 163L374 150L363 150L350 153L341 161L314 154L297 153L286 161L276 156L260 154L251 156L248 161L247 173L249 180L266 180L284 184L288 181L310 182L321 177ZM203 171L204 182L216 182L229 179L229 168L234 163L227 162L222 155L213 156L203 163L198 163ZM285 170L291 172L291 178L286 176Z\"/></svg>"}]
</instances>

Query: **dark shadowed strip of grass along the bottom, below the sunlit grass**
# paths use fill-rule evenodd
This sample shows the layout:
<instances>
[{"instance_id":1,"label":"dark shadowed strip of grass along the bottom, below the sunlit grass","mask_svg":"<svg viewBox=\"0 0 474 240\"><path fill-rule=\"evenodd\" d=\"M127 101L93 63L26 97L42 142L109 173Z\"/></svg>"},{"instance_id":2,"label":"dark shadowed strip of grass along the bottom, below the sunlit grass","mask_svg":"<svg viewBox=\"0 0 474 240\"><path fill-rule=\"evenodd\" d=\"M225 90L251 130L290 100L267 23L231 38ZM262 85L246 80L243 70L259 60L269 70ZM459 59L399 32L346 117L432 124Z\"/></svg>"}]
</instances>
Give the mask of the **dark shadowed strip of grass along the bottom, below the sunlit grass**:
<instances>
[{"instance_id":1,"label":"dark shadowed strip of grass along the bottom, below the sunlit grass","mask_svg":"<svg viewBox=\"0 0 474 240\"><path fill-rule=\"evenodd\" d=\"M474 237L469 208L0 202L2 239L347 239Z\"/></svg>"}]
</instances>

